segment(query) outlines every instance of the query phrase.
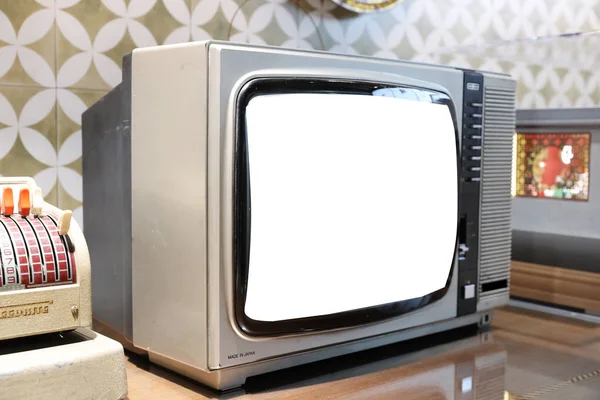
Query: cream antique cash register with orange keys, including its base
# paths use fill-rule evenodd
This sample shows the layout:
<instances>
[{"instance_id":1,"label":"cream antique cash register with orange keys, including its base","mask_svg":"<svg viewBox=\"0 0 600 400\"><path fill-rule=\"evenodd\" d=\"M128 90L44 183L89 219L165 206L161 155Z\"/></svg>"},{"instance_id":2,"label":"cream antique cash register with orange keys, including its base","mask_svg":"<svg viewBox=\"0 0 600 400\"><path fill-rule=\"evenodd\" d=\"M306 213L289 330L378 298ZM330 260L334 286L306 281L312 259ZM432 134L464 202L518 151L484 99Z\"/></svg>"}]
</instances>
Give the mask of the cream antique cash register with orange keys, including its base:
<instances>
[{"instance_id":1,"label":"cream antique cash register with orange keys, including its base","mask_svg":"<svg viewBox=\"0 0 600 400\"><path fill-rule=\"evenodd\" d=\"M125 397L122 346L91 330L90 257L72 212L31 178L0 177L0 204L0 399Z\"/></svg>"}]
</instances>

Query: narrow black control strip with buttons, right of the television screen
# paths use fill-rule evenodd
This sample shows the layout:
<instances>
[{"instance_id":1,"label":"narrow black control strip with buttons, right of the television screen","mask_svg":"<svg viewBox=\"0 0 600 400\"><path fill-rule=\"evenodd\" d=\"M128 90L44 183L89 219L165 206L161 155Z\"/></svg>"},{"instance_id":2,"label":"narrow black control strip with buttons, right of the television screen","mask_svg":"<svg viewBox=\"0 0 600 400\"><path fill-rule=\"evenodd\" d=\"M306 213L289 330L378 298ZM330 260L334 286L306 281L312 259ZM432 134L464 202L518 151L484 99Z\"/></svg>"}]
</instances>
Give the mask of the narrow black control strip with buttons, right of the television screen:
<instances>
[{"instance_id":1,"label":"narrow black control strip with buttons, right of the television screen","mask_svg":"<svg viewBox=\"0 0 600 400\"><path fill-rule=\"evenodd\" d=\"M477 309L483 75L464 71L458 238L458 315Z\"/></svg>"}]
</instances>

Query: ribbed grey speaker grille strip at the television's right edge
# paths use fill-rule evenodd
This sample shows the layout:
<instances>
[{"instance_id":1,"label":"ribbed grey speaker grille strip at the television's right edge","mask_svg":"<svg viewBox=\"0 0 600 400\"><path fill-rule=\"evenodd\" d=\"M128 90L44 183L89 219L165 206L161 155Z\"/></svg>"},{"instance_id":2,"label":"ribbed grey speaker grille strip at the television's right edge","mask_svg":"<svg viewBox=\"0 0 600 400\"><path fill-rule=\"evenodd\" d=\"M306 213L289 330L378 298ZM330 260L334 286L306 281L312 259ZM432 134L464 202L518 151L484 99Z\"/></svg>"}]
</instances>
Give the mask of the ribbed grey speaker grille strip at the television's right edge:
<instances>
[{"instance_id":1,"label":"ribbed grey speaker grille strip at the television's right edge","mask_svg":"<svg viewBox=\"0 0 600 400\"><path fill-rule=\"evenodd\" d=\"M514 80L484 74L483 132L477 311L509 300Z\"/></svg>"}]
</instances>

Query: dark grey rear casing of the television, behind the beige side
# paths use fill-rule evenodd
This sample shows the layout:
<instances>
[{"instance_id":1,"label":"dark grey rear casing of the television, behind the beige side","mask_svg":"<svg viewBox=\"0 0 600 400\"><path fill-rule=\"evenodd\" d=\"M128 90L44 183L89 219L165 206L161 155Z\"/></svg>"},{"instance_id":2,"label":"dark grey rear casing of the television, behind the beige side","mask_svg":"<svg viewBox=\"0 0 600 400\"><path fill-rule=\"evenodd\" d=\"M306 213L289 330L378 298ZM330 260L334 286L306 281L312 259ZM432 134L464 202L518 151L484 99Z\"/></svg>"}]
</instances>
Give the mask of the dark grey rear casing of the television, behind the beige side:
<instances>
[{"instance_id":1,"label":"dark grey rear casing of the television, behind the beige side","mask_svg":"<svg viewBox=\"0 0 600 400\"><path fill-rule=\"evenodd\" d=\"M82 170L93 315L131 341L130 77L127 56L123 82L83 113Z\"/></svg>"}]
</instances>

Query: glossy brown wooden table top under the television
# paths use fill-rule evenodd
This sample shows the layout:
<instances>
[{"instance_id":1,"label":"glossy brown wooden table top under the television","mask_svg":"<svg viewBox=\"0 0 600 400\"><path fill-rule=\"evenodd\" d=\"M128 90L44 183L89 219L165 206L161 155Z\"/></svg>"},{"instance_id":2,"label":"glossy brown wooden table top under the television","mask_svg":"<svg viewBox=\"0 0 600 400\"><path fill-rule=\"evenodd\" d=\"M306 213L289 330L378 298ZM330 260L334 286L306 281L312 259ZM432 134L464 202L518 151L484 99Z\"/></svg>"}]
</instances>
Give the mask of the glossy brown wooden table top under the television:
<instances>
[{"instance_id":1,"label":"glossy brown wooden table top under the television","mask_svg":"<svg viewBox=\"0 0 600 400\"><path fill-rule=\"evenodd\" d=\"M130 400L600 399L600 327L511 308L498 310L486 332L440 334L278 371L227 393L127 358Z\"/></svg>"}]
</instances>

